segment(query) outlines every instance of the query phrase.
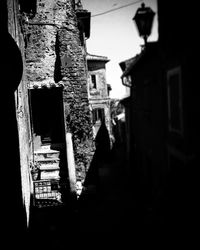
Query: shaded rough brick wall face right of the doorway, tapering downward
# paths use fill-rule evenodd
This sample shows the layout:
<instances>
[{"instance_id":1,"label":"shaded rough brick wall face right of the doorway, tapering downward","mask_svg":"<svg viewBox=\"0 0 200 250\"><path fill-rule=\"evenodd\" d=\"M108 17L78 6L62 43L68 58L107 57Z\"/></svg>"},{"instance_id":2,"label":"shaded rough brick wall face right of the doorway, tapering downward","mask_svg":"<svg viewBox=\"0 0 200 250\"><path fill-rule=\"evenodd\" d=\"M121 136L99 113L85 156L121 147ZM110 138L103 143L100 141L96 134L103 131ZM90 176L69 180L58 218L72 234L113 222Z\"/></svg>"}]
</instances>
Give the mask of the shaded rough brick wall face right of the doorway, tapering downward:
<instances>
[{"instance_id":1,"label":"shaded rough brick wall face right of the doorway, tapering downward","mask_svg":"<svg viewBox=\"0 0 200 250\"><path fill-rule=\"evenodd\" d=\"M68 6L66 13L71 18L68 19L66 28L58 31L58 47L61 60L59 75L61 75L64 86L63 98L67 130L70 130L73 134L77 178L82 179L93 154L86 51L84 44L80 40L73 5L71 5L71 8ZM63 63L63 61L67 63Z\"/></svg>"}]
</instances>

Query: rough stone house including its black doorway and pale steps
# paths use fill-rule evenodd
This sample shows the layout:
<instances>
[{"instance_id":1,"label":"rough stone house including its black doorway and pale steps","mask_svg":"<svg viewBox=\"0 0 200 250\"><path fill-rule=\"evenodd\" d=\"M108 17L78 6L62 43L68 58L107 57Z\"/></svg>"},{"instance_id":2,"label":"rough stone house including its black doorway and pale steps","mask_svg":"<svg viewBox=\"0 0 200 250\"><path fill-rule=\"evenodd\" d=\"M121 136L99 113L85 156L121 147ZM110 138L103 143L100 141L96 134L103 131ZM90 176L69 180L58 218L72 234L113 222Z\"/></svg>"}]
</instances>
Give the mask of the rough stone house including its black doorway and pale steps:
<instances>
[{"instance_id":1,"label":"rough stone house including its black doorway and pale steps","mask_svg":"<svg viewBox=\"0 0 200 250\"><path fill-rule=\"evenodd\" d=\"M57 180L66 189L62 194L65 199L68 189L75 193L76 178L84 178L82 172L92 157L85 50L85 38L90 35L90 13L82 9L80 1L79 4L74 0L35 2L35 9L27 12L24 5L21 10L24 10L33 161L40 168L39 180L43 183ZM70 150L68 133L73 141ZM51 195L60 199L58 193Z\"/></svg>"}]
</instances>

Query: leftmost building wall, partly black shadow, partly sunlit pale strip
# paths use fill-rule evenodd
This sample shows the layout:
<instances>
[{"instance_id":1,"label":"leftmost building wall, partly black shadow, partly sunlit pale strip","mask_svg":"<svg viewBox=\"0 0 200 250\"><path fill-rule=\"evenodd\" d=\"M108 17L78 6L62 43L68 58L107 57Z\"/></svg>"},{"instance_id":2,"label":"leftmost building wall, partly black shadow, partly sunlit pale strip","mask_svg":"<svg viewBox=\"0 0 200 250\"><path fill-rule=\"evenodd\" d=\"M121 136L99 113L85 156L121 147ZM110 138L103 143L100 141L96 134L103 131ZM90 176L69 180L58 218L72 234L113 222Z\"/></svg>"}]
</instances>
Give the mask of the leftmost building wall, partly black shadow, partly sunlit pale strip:
<instances>
[{"instance_id":1,"label":"leftmost building wall, partly black shadow, partly sunlit pale strip","mask_svg":"<svg viewBox=\"0 0 200 250\"><path fill-rule=\"evenodd\" d=\"M19 2L1 1L0 18L3 39L1 114L4 117L1 156L6 165L2 176L7 180L3 228L5 238L18 232L17 245L27 232L31 204L31 175L29 162L32 156L32 137L29 95L25 73L24 34L20 19ZM3 182L4 183L4 182ZM2 237L4 238L4 236ZM2 239L3 240L3 239ZM9 242L7 243L9 245Z\"/></svg>"}]
</instances>

